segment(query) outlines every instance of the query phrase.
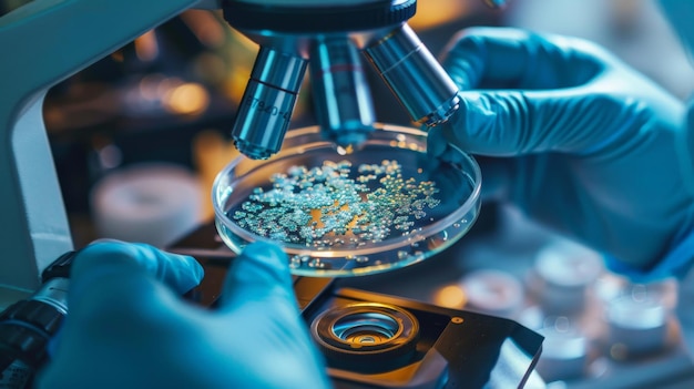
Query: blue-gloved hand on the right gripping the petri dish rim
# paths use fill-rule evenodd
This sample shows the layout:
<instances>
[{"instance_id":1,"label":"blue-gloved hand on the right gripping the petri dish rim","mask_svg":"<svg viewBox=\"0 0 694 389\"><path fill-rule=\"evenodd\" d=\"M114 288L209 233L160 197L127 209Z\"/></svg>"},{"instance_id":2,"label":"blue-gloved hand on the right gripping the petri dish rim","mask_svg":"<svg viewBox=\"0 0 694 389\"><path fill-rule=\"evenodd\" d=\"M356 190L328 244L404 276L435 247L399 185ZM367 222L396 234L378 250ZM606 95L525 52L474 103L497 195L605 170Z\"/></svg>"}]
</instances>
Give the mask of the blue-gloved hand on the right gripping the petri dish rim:
<instances>
[{"instance_id":1,"label":"blue-gloved hand on the right gripping the petri dish rim","mask_svg":"<svg viewBox=\"0 0 694 389\"><path fill-rule=\"evenodd\" d=\"M633 277L694 254L694 129L682 102L583 40L476 28L442 59L463 92L433 129L482 158L484 194L604 252ZM663 63L664 66L667 63Z\"/></svg>"}]
</instances>

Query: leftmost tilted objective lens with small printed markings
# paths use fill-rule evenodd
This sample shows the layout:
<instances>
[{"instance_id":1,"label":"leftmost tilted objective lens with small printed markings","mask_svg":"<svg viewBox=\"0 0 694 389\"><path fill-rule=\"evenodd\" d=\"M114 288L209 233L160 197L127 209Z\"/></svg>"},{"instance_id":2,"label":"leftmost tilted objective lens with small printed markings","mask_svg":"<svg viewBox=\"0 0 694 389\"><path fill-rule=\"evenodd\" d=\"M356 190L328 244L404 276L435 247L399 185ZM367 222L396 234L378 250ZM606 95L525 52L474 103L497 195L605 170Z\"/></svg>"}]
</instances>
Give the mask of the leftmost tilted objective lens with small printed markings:
<instances>
[{"instance_id":1,"label":"leftmost tilted objective lens with small printed markings","mask_svg":"<svg viewBox=\"0 0 694 389\"><path fill-rule=\"evenodd\" d=\"M232 130L244 155L267 160L279 151L306 65L300 57L261 47Z\"/></svg>"}]
</instances>

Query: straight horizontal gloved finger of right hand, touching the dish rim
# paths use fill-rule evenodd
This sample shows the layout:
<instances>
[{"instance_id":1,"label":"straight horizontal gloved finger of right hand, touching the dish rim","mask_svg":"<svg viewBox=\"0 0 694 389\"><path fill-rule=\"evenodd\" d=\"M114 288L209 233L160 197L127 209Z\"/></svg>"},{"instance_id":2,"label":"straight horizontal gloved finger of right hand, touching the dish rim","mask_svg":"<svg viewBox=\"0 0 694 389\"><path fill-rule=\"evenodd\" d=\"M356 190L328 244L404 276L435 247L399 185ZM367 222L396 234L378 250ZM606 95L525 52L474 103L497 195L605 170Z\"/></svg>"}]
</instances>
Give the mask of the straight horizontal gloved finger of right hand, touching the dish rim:
<instances>
[{"instance_id":1,"label":"straight horizontal gloved finger of right hand, touching the dish rim","mask_svg":"<svg viewBox=\"0 0 694 389\"><path fill-rule=\"evenodd\" d=\"M458 112L440 125L442 136L461 150L487 156L562 152L588 154L626 133L606 133L626 121L619 96L582 88L554 91L461 92ZM595 120L602 125L595 126ZM624 131L635 126L622 126Z\"/></svg>"}]
</instances>

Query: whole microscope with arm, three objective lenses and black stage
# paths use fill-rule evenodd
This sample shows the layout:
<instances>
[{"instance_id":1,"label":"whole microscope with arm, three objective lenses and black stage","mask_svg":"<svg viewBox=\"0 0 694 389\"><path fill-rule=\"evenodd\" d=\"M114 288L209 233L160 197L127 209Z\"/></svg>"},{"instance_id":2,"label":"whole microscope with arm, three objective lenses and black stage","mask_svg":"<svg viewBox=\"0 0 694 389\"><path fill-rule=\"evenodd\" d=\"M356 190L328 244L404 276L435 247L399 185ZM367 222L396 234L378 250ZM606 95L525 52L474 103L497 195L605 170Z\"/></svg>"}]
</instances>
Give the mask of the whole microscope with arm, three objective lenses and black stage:
<instances>
[{"instance_id":1,"label":"whole microscope with arm, three objective lenses and black stage","mask_svg":"<svg viewBox=\"0 0 694 389\"><path fill-rule=\"evenodd\" d=\"M4 222L0 234L0 301L3 308L18 300L37 301L38 310L44 305L54 320L29 324L44 338L54 332L67 307L65 294L55 293L60 288L45 291L40 275L47 279L45 270L55 268L49 266L55 258L61 258L59 268L69 266L63 255L73 249L42 119L47 91L190 8L222 10L231 27L259 45L232 126L236 147L249 158L265 160L279 151L307 68L324 137L341 147L358 147L374 131L375 122L360 53L412 122L432 126L458 109L458 88L407 23L416 12L416 0L34 0L6 14L0 18L0 47L6 51L0 64L0 214ZM65 277L61 273L49 278L63 283L64 288ZM299 299L305 298L307 324L314 323L310 326L317 334L328 334L324 349L331 352L328 360L336 364L331 376L345 387L406 387L417 382L418 387L481 387L490 377L506 377L511 380L506 383L522 387L540 354L541 337L510 320L358 290L329 290L326 283L318 284L316 288L315 283L299 277L295 285ZM32 315L25 316L24 320L32 320ZM6 317L22 320L17 315ZM346 342L374 338L358 331L336 338L326 323L359 324L374 318L384 324L371 327L382 338L388 338L387 327L392 324L400 325L394 334L421 336L407 337L409 354L404 347L389 350L395 355L387 360L395 365L388 362L385 370L360 371L351 364L359 365L359 356L334 357L334 349L344 350ZM486 340L477 341L482 338ZM375 349L385 344L377 341ZM12 345L22 347L20 341ZM470 362L468 354L477 355L481 362ZM458 376L451 372L453 367L461 371ZM499 369L500 373L490 373ZM478 373L477 383L466 383L460 373Z\"/></svg>"}]
</instances>

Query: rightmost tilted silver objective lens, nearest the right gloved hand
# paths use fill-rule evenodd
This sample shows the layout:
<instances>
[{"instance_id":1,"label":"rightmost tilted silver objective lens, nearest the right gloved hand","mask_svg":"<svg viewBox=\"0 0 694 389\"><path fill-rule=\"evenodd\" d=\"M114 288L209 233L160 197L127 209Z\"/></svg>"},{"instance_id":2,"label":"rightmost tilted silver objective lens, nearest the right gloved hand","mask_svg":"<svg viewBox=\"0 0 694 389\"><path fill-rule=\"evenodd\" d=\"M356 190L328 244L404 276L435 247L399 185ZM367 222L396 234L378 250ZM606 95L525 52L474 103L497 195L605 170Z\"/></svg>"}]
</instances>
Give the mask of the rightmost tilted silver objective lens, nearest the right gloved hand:
<instances>
[{"instance_id":1,"label":"rightmost tilted silver objective lens, nearest the right gloved hand","mask_svg":"<svg viewBox=\"0 0 694 389\"><path fill-rule=\"evenodd\" d=\"M415 122L436 125L458 109L458 86L406 23L364 51Z\"/></svg>"}]
</instances>

